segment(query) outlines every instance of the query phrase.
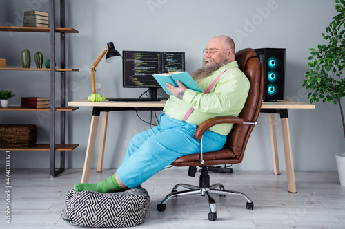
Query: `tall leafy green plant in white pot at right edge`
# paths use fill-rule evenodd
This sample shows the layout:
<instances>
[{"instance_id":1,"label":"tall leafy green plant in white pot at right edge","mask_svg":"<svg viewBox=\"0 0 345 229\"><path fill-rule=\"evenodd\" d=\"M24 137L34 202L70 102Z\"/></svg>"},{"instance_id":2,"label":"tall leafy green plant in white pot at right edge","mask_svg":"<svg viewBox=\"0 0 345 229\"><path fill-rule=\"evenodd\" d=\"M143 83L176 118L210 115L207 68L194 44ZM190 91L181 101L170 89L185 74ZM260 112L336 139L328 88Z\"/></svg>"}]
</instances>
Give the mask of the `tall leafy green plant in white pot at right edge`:
<instances>
[{"instance_id":1,"label":"tall leafy green plant in white pot at right edge","mask_svg":"<svg viewBox=\"0 0 345 229\"><path fill-rule=\"evenodd\" d=\"M333 102L339 105L340 115L345 136L344 113L341 99L345 96L345 1L335 0L337 15L326 27L326 34L322 33L328 41L326 45L318 45L317 49L311 48L310 72L306 72L306 78L302 86L314 92L308 94L308 99L313 102ZM345 153L335 155L339 172L340 184L345 186Z\"/></svg>"}]
</instances>

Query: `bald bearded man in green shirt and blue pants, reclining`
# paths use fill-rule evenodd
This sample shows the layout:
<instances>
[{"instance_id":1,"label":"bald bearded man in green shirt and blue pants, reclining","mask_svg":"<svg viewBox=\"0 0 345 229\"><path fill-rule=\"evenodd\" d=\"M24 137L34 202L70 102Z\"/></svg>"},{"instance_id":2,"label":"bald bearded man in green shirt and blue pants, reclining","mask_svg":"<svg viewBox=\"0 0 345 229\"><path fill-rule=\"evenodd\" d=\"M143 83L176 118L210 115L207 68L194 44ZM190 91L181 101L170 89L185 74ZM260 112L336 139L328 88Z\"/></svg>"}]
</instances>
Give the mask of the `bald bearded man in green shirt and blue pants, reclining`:
<instances>
[{"instance_id":1,"label":"bald bearded man in green shirt and blue pants, reclining","mask_svg":"<svg viewBox=\"0 0 345 229\"><path fill-rule=\"evenodd\" d=\"M203 50L200 69L191 76L204 93L167 83L173 94L159 118L159 125L135 135L121 166L114 175L97 184L75 184L75 191L100 193L135 188L183 155L199 153L194 138L201 122L219 116L238 116L244 107L250 83L235 61L235 43L228 36L215 36ZM191 109L193 107L193 109ZM204 133L203 151L222 149L233 124L217 124Z\"/></svg>"}]
</instances>

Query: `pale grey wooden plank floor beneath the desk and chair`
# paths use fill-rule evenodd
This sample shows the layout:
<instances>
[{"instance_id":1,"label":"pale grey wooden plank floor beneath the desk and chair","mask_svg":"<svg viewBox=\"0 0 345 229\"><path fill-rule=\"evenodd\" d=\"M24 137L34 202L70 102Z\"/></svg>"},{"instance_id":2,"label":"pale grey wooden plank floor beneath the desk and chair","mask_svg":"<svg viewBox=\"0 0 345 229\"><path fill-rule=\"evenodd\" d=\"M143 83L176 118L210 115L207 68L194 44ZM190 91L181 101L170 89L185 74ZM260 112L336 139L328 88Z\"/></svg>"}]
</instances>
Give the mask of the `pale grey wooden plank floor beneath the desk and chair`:
<instances>
[{"instance_id":1,"label":"pale grey wooden plank floor beneath the desk and chair","mask_svg":"<svg viewBox=\"0 0 345 229\"><path fill-rule=\"evenodd\" d=\"M110 177L114 171L91 171L90 183ZM217 201L217 221L208 221L208 204L201 195L176 197L166 210L157 204L179 182L198 184L199 177L188 177L187 168L168 168L142 186L148 190L151 205L143 224L135 228L345 228L345 187L337 173L296 172L297 193L288 193L286 174L271 171L234 171L233 174L210 173L212 183L245 193L254 203L247 210L246 199L227 196ZM6 190L5 170L0 168L0 228L79 228L61 219L64 197L73 184L80 182L81 169L68 169L49 178L48 169L12 168L10 201ZM11 223L6 223L10 206Z\"/></svg>"}]
</instances>

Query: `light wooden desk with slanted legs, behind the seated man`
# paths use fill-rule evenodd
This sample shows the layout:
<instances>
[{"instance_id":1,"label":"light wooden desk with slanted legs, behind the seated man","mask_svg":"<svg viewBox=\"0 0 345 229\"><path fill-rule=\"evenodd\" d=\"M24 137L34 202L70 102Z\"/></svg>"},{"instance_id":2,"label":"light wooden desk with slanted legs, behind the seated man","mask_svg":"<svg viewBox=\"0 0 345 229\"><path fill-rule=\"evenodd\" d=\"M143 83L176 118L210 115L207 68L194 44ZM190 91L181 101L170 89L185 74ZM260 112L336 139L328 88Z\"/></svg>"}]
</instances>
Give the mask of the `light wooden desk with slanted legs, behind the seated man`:
<instances>
[{"instance_id":1,"label":"light wooden desk with slanted legs, behind the seated man","mask_svg":"<svg viewBox=\"0 0 345 229\"><path fill-rule=\"evenodd\" d=\"M96 133L99 123L99 115L103 112L102 126L101 126L101 140L99 144L99 154L97 162L97 171L102 171L104 146L106 144L106 131L108 125L109 111L128 111L128 110L146 110L146 111L160 111L163 109L166 100L160 102L90 102L86 98L68 102L68 106L75 107L93 107L92 119L90 125L90 133L88 137L88 146L86 148L85 162L83 166L83 175L81 177L82 183L88 183L90 177L90 168L95 149ZM263 102L262 113L268 113L270 123L270 139L273 152L273 165L275 175L280 174L277 134L275 131L275 113L280 114L282 122L282 133L284 143L284 155L286 164L286 174L288 179L288 191L296 193L295 172L293 169L293 155L291 151L290 130L288 127L288 109L315 109L315 105L304 102L295 102L292 100L282 100L279 102Z\"/></svg>"}]
</instances>

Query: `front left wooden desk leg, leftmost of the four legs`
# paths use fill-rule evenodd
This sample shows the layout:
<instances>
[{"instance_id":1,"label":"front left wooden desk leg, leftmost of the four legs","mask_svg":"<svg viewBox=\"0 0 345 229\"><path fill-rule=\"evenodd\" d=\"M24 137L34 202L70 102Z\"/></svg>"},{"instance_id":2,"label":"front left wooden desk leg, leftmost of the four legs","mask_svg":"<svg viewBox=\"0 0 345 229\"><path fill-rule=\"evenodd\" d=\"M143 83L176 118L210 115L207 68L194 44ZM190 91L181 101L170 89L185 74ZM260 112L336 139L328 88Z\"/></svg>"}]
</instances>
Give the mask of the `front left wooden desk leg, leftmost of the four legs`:
<instances>
[{"instance_id":1,"label":"front left wooden desk leg, leftmost of the four legs","mask_svg":"<svg viewBox=\"0 0 345 229\"><path fill-rule=\"evenodd\" d=\"M90 178L90 170L93 157L93 150L95 149L98 121L99 116L92 116L90 133L88 135L88 146L86 148L83 175L81 176L81 183L88 183L88 179Z\"/></svg>"}]
</instances>

